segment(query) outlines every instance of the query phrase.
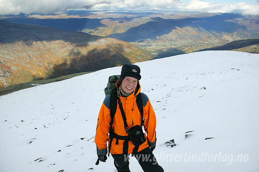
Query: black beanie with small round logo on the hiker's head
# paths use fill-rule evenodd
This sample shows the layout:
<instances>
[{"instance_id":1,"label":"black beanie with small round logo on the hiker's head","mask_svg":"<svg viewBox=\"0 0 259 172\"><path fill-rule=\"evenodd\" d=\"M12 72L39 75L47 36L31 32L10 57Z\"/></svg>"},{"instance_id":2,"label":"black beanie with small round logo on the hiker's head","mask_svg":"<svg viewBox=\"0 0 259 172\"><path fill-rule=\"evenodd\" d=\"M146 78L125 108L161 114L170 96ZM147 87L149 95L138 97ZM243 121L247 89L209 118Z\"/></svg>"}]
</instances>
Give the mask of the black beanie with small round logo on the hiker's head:
<instances>
[{"instance_id":1,"label":"black beanie with small round logo on the hiker's head","mask_svg":"<svg viewBox=\"0 0 259 172\"><path fill-rule=\"evenodd\" d=\"M125 77L134 77L140 80L140 68L134 64L124 64L121 68L120 81L122 82Z\"/></svg>"}]
</instances>

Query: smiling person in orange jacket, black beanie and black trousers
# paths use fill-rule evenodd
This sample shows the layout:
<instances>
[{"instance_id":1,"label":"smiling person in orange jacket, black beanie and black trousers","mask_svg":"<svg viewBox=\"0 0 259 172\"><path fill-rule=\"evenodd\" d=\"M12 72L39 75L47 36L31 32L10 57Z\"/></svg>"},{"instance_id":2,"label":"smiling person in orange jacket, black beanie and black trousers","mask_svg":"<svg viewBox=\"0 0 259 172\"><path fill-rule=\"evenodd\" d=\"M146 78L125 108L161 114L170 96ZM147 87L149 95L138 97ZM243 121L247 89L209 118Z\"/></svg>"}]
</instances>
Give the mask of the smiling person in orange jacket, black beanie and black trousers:
<instances>
[{"instance_id":1,"label":"smiling person in orange jacket, black beanie and black trousers","mask_svg":"<svg viewBox=\"0 0 259 172\"><path fill-rule=\"evenodd\" d=\"M108 149L118 172L130 172L130 154L136 157L144 172L163 172L152 153L156 146L156 116L149 98L140 92L140 79L137 65L123 65L116 82L117 91L105 97L96 127L98 160L107 160ZM111 117L114 97L115 110Z\"/></svg>"}]
</instances>

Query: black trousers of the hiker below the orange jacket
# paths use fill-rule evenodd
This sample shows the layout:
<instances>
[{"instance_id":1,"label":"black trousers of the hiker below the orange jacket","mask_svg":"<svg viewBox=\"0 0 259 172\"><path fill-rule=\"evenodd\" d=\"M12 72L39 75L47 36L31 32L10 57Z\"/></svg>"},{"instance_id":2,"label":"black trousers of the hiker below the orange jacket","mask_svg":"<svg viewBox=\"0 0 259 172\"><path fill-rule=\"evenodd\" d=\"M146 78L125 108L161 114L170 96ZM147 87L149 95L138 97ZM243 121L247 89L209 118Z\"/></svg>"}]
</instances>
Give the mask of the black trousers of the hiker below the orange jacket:
<instances>
[{"instance_id":1,"label":"black trousers of the hiker below the orange jacket","mask_svg":"<svg viewBox=\"0 0 259 172\"><path fill-rule=\"evenodd\" d=\"M112 154L114 159L114 165L118 172L130 172L129 168L129 155L126 154ZM142 170L144 172L163 172L164 169L158 165L154 154L152 153L150 147L139 151L134 157L139 162Z\"/></svg>"}]
</instances>

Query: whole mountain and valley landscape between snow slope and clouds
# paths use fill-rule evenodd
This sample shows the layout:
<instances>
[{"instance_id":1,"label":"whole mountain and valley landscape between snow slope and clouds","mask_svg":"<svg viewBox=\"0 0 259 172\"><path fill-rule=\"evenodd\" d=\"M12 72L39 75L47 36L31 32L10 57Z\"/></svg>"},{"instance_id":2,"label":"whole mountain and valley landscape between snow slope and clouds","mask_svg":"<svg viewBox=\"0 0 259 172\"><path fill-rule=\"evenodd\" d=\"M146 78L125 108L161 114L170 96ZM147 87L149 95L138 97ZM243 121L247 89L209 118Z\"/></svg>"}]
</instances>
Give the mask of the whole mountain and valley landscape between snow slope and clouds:
<instances>
[{"instance_id":1,"label":"whole mountain and valley landscape between snow slope and clouds","mask_svg":"<svg viewBox=\"0 0 259 172\"><path fill-rule=\"evenodd\" d=\"M259 17L251 15L69 11L0 16L0 89L195 51L258 53L258 38Z\"/></svg>"}]
</instances>

